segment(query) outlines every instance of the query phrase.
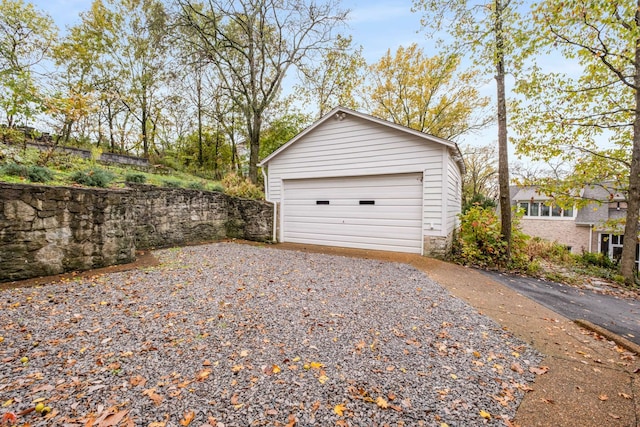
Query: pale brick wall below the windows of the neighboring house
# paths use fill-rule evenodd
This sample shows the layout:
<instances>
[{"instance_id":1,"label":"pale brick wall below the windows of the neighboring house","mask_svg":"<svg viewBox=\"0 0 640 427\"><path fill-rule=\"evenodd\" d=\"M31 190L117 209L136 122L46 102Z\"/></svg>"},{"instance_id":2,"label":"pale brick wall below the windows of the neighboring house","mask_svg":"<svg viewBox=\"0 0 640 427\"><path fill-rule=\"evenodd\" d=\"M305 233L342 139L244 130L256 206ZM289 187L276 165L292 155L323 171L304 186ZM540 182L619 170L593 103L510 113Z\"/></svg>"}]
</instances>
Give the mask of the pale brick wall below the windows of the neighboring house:
<instances>
[{"instance_id":1,"label":"pale brick wall below the windows of the neighboring house","mask_svg":"<svg viewBox=\"0 0 640 427\"><path fill-rule=\"evenodd\" d=\"M538 236L571 246L571 252L574 254L589 251L588 226L578 226L571 220L531 218L522 218L520 226L522 231L529 236ZM596 252L597 249L595 246L591 248L591 251Z\"/></svg>"}]
</instances>

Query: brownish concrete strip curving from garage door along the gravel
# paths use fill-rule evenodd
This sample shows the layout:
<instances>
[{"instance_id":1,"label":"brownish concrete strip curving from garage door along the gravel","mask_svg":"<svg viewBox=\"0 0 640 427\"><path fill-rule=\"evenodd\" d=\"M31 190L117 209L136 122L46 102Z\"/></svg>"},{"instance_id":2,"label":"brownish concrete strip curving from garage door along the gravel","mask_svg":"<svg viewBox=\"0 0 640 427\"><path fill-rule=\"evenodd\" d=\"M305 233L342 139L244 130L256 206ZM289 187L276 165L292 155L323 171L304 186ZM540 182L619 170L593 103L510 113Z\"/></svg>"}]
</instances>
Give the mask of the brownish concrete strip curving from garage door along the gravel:
<instances>
[{"instance_id":1,"label":"brownish concrete strip curving from garage door along the gravel","mask_svg":"<svg viewBox=\"0 0 640 427\"><path fill-rule=\"evenodd\" d=\"M278 249L411 264L545 355L516 425L640 426L638 356L483 274L418 255L282 243Z\"/></svg>"}]
</instances>

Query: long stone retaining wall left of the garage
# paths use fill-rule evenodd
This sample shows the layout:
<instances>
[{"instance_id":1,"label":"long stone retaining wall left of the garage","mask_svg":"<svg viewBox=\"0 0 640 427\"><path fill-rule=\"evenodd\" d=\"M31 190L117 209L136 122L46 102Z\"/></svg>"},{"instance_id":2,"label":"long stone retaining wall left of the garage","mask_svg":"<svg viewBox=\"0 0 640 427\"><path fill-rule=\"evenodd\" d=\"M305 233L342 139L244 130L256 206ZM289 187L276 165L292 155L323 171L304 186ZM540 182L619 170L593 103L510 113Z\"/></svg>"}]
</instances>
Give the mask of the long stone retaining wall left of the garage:
<instances>
[{"instance_id":1,"label":"long stone retaining wall left of the garage","mask_svg":"<svg viewBox=\"0 0 640 427\"><path fill-rule=\"evenodd\" d=\"M268 241L270 203L218 192L0 183L0 282L131 262L136 249Z\"/></svg>"}]
</instances>

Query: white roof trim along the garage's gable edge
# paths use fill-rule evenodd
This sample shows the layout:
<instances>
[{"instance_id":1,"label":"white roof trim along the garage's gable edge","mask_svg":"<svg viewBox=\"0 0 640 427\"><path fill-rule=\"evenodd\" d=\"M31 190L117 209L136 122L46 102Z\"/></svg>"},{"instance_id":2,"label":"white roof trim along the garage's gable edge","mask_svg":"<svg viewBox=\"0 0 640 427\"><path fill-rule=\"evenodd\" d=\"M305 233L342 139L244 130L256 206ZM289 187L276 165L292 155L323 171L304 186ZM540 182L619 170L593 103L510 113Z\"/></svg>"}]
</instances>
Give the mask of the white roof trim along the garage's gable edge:
<instances>
[{"instance_id":1,"label":"white roof trim along the garage's gable edge","mask_svg":"<svg viewBox=\"0 0 640 427\"><path fill-rule=\"evenodd\" d=\"M354 111L354 110L351 110L345 107L340 107L340 106L334 108L329 113L325 114L322 118L320 118L319 120L311 124L309 127L307 127L305 130L300 132L298 135L290 139L286 144L284 144L282 147L280 147L279 149L271 153L269 156L267 156L260 163L258 163L258 166L263 167L267 165L272 159L280 155L282 152L286 151L289 147L291 147L297 141L303 139L306 135L311 133L314 129L318 128L328 120L332 118L336 120L343 120L347 115L351 115L371 123L375 123L378 125L382 125L391 129L395 129L395 130L413 135L413 136L417 136L420 139L431 142L431 143L444 145L449 148L449 151L452 157L455 159L456 163L458 164L458 167L460 168L461 173L465 172L464 161L462 160L462 154L456 143L452 141L448 141L446 139L438 138L433 135L426 134L424 132L417 131L415 129L408 128L406 126L398 125L396 123L392 123L387 120L383 120L368 114L360 113L358 111Z\"/></svg>"}]
</instances>

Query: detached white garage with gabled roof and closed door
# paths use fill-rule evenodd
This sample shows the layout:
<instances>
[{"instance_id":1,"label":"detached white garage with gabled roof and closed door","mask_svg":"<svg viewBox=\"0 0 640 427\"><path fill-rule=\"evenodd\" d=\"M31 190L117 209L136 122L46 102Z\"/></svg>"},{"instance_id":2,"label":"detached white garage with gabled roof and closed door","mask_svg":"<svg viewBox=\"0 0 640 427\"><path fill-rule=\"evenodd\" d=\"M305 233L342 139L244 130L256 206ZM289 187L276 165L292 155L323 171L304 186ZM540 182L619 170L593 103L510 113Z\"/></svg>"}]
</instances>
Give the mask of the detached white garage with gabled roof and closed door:
<instances>
[{"instance_id":1,"label":"detached white garage with gabled roof and closed door","mask_svg":"<svg viewBox=\"0 0 640 427\"><path fill-rule=\"evenodd\" d=\"M281 242L442 255L458 226L458 146L347 108L259 166Z\"/></svg>"}]
</instances>

